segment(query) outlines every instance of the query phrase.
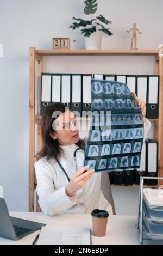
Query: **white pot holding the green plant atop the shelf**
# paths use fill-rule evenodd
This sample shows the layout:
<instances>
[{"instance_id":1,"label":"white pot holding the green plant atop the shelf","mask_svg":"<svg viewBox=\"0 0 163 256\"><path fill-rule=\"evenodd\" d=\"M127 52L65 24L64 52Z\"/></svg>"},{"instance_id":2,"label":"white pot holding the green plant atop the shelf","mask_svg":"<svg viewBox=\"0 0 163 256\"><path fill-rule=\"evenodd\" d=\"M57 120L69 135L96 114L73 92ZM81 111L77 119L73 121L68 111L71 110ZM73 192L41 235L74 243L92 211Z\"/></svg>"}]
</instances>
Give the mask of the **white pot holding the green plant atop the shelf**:
<instances>
[{"instance_id":1,"label":"white pot holding the green plant atop the shelf","mask_svg":"<svg viewBox=\"0 0 163 256\"><path fill-rule=\"evenodd\" d=\"M86 50L100 50L102 42L102 32L96 31L91 34L89 38L85 36L85 48Z\"/></svg>"}]
</instances>

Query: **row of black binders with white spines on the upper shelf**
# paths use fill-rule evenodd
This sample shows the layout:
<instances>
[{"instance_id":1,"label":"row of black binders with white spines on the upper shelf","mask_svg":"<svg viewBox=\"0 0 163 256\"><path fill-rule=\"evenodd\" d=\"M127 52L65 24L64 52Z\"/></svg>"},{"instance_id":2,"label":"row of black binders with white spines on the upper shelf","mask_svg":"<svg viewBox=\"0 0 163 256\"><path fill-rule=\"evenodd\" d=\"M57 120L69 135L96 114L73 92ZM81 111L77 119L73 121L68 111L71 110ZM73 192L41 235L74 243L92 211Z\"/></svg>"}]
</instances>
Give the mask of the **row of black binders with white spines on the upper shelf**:
<instances>
[{"instance_id":1,"label":"row of black binders with white spines on the upper shelf","mask_svg":"<svg viewBox=\"0 0 163 256\"><path fill-rule=\"evenodd\" d=\"M146 117L158 118L159 76L102 74L41 74L41 114L54 102L64 103L72 111L91 111L91 78L126 83L130 91L146 103Z\"/></svg>"}]
</instances>

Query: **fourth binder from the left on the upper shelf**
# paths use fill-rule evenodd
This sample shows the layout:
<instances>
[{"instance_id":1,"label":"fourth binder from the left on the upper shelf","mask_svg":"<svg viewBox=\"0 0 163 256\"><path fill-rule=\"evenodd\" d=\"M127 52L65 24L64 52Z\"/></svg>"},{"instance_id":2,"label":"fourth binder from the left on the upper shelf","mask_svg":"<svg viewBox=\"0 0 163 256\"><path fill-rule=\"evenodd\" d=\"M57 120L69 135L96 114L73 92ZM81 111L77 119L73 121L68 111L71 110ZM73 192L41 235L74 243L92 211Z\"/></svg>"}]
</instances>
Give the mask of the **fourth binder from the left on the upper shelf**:
<instances>
[{"instance_id":1,"label":"fourth binder from the left on the upper shelf","mask_svg":"<svg viewBox=\"0 0 163 256\"><path fill-rule=\"evenodd\" d=\"M71 78L71 109L82 113L82 74L72 74Z\"/></svg>"}]
</instances>

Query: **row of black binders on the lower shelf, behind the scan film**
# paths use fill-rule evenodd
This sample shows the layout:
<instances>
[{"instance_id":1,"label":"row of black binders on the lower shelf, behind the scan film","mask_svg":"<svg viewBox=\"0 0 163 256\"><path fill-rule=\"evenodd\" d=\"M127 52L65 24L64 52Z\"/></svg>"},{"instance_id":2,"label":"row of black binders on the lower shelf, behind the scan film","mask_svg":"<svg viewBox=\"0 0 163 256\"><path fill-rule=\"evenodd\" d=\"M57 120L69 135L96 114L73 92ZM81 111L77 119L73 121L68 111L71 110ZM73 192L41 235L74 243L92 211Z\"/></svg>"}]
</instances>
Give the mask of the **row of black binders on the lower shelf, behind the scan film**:
<instances>
[{"instance_id":1,"label":"row of black binders on the lower shelf, behind the scan film","mask_svg":"<svg viewBox=\"0 0 163 256\"><path fill-rule=\"evenodd\" d=\"M148 139L143 143L139 169L108 172L110 184L139 185L140 177L158 176L158 142ZM145 180L146 185L157 185L158 180Z\"/></svg>"}]
</instances>

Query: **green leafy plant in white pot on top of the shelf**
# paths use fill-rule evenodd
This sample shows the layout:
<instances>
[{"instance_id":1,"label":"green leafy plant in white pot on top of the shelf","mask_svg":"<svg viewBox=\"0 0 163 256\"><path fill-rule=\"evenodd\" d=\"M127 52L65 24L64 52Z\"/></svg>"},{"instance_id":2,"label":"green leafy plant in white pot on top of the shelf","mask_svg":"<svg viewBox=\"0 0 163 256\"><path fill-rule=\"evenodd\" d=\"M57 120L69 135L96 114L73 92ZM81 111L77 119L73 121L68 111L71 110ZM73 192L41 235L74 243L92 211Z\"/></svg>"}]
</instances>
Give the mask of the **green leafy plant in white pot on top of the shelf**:
<instances>
[{"instance_id":1,"label":"green leafy plant in white pot on top of the shelf","mask_svg":"<svg viewBox=\"0 0 163 256\"><path fill-rule=\"evenodd\" d=\"M85 46L87 50L97 50L101 48L102 32L107 35L112 35L109 28L105 28L104 25L111 24L111 21L106 20L101 14L92 19L92 14L97 11L97 0L86 0L84 1L84 13L90 15L90 20L77 19L73 17L73 22L70 28L76 29L83 27L81 29L82 34L85 38Z\"/></svg>"}]
</instances>

